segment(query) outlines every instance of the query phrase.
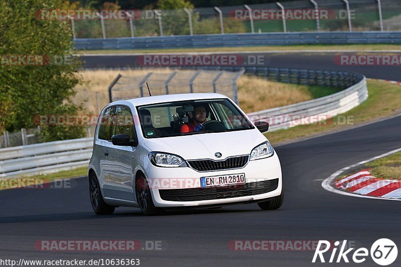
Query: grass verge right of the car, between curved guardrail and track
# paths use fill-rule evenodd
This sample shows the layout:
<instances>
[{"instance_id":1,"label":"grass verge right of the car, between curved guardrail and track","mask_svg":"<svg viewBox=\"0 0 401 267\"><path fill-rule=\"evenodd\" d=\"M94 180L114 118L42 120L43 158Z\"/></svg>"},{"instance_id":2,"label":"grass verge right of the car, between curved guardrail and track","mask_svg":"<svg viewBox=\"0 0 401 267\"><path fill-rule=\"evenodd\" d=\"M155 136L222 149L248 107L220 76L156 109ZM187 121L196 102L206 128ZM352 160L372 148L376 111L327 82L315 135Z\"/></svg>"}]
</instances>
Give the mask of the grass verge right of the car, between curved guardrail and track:
<instances>
[{"instance_id":1,"label":"grass verge right of the car, between curved guardrail and track","mask_svg":"<svg viewBox=\"0 0 401 267\"><path fill-rule=\"evenodd\" d=\"M378 80L368 80L368 99L356 108L320 124L300 125L287 130L267 132L273 144L290 142L322 133L346 129L368 121L401 112L401 86Z\"/></svg>"}]
</instances>

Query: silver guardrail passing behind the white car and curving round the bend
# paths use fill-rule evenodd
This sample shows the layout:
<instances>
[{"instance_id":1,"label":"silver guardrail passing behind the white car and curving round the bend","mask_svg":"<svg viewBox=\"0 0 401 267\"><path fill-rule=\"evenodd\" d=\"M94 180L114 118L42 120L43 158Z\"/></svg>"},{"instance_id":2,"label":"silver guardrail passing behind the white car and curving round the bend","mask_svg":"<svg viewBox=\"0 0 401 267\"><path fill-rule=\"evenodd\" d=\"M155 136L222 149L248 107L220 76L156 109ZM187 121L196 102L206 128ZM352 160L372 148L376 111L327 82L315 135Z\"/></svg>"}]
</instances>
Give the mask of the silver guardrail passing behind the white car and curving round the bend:
<instances>
[{"instance_id":1,"label":"silver guardrail passing behind the white car and curving round the bend","mask_svg":"<svg viewBox=\"0 0 401 267\"><path fill-rule=\"evenodd\" d=\"M348 87L322 98L248 114L253 121L273 118L271 131L296 126L297 120L310 116L332 117L344 113L368 97L366 78L360 74L278 68L249 68L247 72L281 82ZM275 123L278 121L280 123ZM92 138L81 138L0 149L0 179L85 166L91 157L92 146Z\"/></svg>"}]
</instances>

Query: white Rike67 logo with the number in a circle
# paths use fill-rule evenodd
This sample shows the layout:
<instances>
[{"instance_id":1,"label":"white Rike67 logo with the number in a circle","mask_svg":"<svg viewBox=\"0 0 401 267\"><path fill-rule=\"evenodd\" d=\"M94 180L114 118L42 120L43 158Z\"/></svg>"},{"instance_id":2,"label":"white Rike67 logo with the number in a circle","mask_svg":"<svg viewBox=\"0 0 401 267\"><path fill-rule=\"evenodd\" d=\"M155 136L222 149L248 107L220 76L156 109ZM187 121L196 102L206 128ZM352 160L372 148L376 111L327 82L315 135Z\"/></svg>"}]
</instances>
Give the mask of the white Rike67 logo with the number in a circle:
<instances>
[{"instance_id":1,"label":"white Rike67 logo with the number in a circle","mask_svg":"<svg viewBox=\"0 0 401 267\"><path fill-rule=\"evenodd\" d=\"M328 254L330 254L330 259L328 262L349 262L348 257L352 259L355 263L361 263L366 260L366 257L369 256L369 250L365 247L358 248L354 250L354 247L346 248L347 240L343 240L342 243L340 241L334 242L334 247L330 247L330 242L327 240L319 240L315 254L313 255L312 262L326 262L326 258L324 257L324 253L331 250ZM337 254L337 250L338 254ZM354 251L352 251L354 250ZM352 252L351 252L352 251ZM395 243L387 238L381 238L372 244L370 247L370 257L379 265L389 265L395 261L397 258L398 249Z\"/></svg>"}]
</instances>

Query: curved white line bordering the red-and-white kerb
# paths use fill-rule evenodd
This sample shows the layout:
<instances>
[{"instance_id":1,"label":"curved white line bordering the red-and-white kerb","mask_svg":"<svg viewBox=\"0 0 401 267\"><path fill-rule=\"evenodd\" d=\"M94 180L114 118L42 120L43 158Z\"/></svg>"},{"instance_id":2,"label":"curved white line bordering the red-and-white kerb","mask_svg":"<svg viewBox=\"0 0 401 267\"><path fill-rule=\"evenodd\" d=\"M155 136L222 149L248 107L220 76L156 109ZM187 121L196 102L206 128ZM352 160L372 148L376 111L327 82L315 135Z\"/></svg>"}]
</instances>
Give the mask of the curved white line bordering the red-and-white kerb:
<instances>
[{"instance_id":1,"label":"curved white line bordering the red-and-white kerb","mask_svg":"<svg viewBox=\"0 0 401 267\"><path fill-rule=\"evenodd\" d=\"M344 173L345 171L347 171L347 170L349 170L349 169L351 169L351 168L355 168L355 167L357 167L357 166L359 166L359 165L365 164L365 163L367 163L367 162L373 161L373 160L375 160L375 159L379 159L379 158L382 158L382 157L385 157L385 156L388 156L388 155L397 153L397 152L399 152L399 151L401 151L401 148L391 150L391 151L389 151L389 152L387 152L387 153L384 153L384 154L381 154L381 155L379 155L379 156L375 156L375 157L372 157L372 158L369 158L369 159L366 159L366 160L357 162L357 163L355 163L355 164L349 165L349 166L344 167L344 168L342 168L342 169L339 169L338 171L334 172L334 173L331 174L329 177L327 177L326 179L324 179L324 181L322 182L322 187L323 187L325 190L329 191L329 192L333 192L333 193L340 194L340 195L347 195L347 196L353 196L353 197L363 197L363 198L374 198L374 199L382 199L382 200L401 201L401 199L397 199L397 198L385 198L385 197L367 196L367 195L359 195L359 194L349 193L349 192L345 192L345 191L339 190L339 189L335 188L335 187L332 185L332 184L333 184L333 180L334 180L336 177L338 177L339 175L341 175L342 173ZM398 189L397 189L397 190L398 190Z\"/></svg>"}]
</instances>

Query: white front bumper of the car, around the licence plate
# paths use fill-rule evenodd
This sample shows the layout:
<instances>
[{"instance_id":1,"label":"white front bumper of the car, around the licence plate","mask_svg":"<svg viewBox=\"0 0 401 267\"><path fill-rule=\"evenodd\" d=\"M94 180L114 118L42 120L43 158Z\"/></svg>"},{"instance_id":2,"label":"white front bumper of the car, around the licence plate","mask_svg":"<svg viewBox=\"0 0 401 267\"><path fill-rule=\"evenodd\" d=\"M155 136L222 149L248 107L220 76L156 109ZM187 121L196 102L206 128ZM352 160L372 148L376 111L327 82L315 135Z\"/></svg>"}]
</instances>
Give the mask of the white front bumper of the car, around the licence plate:
<instances>
[{"instance_id":1,"label":"white front bumper of the car, around the licence plate","mask_svg":"<svg viewBox=\"0 0 401 267\"><path fill-rule=\"evenodd\" d=\"M200 177L237 173L245 173L246 177L246 184L237 189L200 187ZM156 207L257 202L278 196L282 190L281 166L276 153L269 158L249 161L243 168L208 172L198 172L189 167L162 168L149 164L146 166L145 176L148 179L153 203ZM194 197L190 197L191 192ZM182 193L181 197L180 193ZM212 195L205 197L207 194Z\"/></svg>"}]
</instances>

